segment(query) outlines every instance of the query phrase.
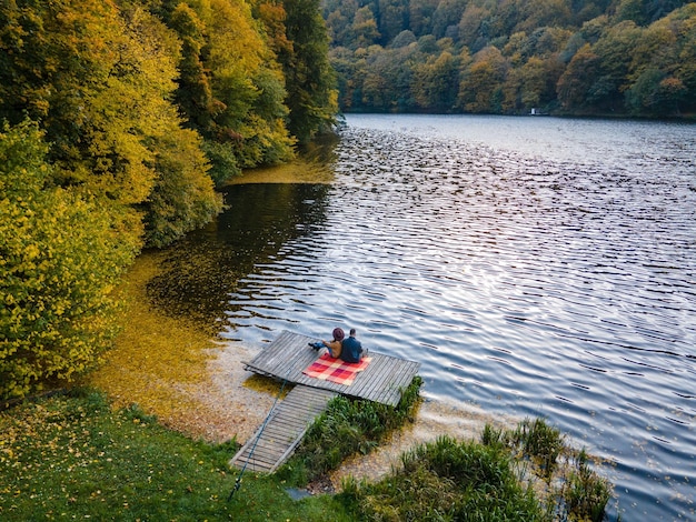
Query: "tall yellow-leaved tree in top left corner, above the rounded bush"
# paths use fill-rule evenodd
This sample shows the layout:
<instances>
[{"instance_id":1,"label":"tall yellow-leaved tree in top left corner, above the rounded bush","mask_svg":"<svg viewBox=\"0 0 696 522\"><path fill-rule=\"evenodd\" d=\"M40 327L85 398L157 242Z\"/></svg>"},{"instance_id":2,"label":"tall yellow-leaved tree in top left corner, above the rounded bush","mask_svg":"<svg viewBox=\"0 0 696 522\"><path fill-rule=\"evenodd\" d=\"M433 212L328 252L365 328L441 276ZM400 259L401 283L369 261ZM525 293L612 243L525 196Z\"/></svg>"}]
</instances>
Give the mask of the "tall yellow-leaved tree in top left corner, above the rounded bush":
<instances>
[{"instance_id":1,"label":"tall yellow-leaved tree in top left corner, above the rounded bush","mask_svg":"<svg viewBox=\"0 0 696 522\"><path fill-rule=\"evenodd\" d=\"M142 141L150 106L169 77L151 76L111 2L4 3L0 114L42 121L63 184L83 184L123 204L145 201L155 180Z\"/></svg>"}]
</instances>

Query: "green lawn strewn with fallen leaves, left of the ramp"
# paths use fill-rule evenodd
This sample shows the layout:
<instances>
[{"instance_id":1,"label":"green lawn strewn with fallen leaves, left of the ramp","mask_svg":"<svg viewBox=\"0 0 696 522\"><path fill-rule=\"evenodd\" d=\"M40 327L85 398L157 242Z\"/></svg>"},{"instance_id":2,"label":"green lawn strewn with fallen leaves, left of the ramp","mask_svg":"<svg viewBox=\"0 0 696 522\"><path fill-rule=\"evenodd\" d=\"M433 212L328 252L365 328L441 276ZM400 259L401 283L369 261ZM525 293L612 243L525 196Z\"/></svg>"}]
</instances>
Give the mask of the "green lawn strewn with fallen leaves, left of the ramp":
<instances>
[{"instance_id":1,"label":"green lawn strewn with fallen leaves, left of the ramp","mask_svg":"<svg viewBox=\"0 0 696 522\"><path fill-rule=\"evenodd\" d=\"M276 476L237 472L235 442L210 445L93 392L0 414L0 520L352 520L334 496L296 502Z\"/></svg>"}]
</instances>

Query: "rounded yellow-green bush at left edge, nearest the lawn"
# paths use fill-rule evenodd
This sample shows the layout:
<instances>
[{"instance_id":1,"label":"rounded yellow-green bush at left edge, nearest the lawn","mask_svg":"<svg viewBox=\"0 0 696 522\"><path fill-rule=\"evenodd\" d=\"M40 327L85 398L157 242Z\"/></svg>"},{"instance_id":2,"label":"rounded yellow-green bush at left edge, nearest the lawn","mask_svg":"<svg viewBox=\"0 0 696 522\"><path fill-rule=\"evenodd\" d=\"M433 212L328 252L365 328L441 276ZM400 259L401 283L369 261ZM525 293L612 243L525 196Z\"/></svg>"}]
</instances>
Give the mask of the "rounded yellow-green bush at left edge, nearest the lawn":
<instances>
[{"instance_id":1,"label":"rounded yellow-green bush at left edge, nearest the lawn","mask_svg":"<svg viewBox=\"0 0 696 522\"><path fill-rule=\"evenodd\" d=\"M111 291L136 253L108 204L49 185L47 150L32 123L0 133L3 400L70 382L95 364L115 334Z\"/></svg>"}]
</instances>

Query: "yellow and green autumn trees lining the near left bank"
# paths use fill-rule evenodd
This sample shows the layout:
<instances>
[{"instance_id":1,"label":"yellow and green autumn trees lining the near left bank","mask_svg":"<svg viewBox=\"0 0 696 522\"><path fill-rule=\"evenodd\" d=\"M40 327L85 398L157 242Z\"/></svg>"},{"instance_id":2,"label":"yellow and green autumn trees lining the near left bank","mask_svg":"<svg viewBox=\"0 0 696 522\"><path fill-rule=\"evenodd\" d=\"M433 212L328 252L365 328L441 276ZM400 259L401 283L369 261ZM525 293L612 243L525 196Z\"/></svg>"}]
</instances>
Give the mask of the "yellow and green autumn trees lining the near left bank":
<instances>
[{"instance_id":1,"label":"yellow and green autumn trees lining the near left bank","mask_svg":"<svg viewBox=\"0 0 696 522\"><path fill-rule=\"evenodd\" d=\"M136 255L336 114L318 0L0 3L0 400L98 364Z\"/></svg>"}]
</instances>

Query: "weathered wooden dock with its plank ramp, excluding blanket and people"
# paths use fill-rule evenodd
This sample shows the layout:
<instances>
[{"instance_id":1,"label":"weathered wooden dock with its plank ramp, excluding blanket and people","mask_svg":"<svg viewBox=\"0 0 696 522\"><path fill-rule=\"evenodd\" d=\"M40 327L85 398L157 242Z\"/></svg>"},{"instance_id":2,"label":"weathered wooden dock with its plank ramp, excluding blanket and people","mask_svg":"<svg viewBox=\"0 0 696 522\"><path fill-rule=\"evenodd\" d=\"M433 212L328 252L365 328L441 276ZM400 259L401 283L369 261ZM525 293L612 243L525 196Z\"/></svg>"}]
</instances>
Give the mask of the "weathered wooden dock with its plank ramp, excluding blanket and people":
<instances>
[{"instance_id":1,"label":"weathered wooden dock with its plank ramp, excluding blanket and people","mask_svg":"<svg viewBox=\"0 0 696 522\"><path fill-rule=\"evenodd\" d=\"M328 402L341 393L389 405L397 405L401 390L418 373L420 363L407 361L370 350L370 364L352 384L336 384L314 379L302 373L318 354L309 347L316 339L291 332L282 332L264 349L245 369L262 375L295 384L284 401L276 404L256 434L232 458L230 464L272 473L295 451L311 422Z\"/></svg>"}]
</instances>

